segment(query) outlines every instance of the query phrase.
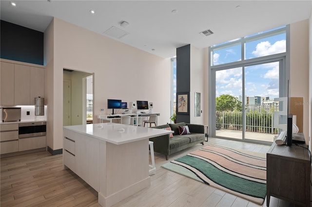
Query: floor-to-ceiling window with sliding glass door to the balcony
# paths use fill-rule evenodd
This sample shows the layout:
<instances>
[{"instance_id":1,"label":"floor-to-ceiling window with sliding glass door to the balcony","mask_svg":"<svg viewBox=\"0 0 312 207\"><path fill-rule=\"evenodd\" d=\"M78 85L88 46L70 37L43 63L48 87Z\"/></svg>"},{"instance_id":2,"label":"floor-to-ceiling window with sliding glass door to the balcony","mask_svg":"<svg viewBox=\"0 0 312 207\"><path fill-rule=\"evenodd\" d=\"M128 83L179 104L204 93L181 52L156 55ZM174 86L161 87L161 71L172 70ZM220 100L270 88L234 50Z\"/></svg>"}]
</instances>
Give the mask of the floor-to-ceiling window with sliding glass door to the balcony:
<instances>
[{"instance_id":1,"label":"floor-to-ceiling window with sliding glass door to the balcony","mask_svg":"<svg viewBox=\"0 0 312 207\"><path fill-rule=\"evenodd\" d=\"M211 134L272 142L275 98L286 95L289 26L237 38L209 48Z\"/></svg>"}]
</instances>

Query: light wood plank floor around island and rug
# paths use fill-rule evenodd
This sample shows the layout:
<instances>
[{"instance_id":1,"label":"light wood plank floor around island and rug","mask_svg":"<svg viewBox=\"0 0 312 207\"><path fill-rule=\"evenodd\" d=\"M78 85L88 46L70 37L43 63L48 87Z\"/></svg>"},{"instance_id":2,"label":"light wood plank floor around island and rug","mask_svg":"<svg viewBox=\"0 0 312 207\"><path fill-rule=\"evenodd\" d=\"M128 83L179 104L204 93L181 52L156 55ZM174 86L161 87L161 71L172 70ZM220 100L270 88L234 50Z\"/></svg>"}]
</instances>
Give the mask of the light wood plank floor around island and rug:
<instances>
[{"instance_id":1,"label":"light wood plank floor around island and rug","mask_svg":"<svg viewBox=\"0 0 312 207\"><path fill-rule=\"evenodd\" d=\"M270 146L209 138L210 143L266 153ZM120 201L115 207L257 207L232 194L217 190L160 166L202 148L198 144L169 156L155 153L156 174L151 186ZM1 207L99 207L97 192L70 170L62 169L62 155L37 152L1 158ZM127 173L127 172L125 172ZM266 206L266 201L263 206ZM270 207L293 204L271 197Z\"/></svg>"}]
</instances>

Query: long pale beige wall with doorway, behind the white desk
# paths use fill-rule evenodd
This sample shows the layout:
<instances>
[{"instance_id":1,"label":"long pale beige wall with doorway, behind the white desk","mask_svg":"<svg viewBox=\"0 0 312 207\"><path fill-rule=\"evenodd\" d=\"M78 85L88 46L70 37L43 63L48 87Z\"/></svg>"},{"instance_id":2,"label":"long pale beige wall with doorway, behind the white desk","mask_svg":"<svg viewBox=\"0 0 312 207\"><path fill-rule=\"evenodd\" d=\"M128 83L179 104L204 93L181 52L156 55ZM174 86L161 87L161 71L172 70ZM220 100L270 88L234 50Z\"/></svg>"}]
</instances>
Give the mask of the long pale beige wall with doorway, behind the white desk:
<instances>
[{"instance_id":1,"label":"long pale beige wall with doorway, behind the white desk","mask_svg":"<svg viewBox=\"0 0 312 207\"><path fill-rule=\"evenodd\" d=\"M111 109L106 110L107 99L146 100L160 113L158 124L170 121L170 58L140 51L57 18L50 27L54 27L48 29L53 33L49 35L54 41L53 57L47 57L54 65L53 93L47 94L53 101L50 148L62 148L63 68L94 73L94 116L100 108L111 113Z\"/></svg>"}]
</instances>

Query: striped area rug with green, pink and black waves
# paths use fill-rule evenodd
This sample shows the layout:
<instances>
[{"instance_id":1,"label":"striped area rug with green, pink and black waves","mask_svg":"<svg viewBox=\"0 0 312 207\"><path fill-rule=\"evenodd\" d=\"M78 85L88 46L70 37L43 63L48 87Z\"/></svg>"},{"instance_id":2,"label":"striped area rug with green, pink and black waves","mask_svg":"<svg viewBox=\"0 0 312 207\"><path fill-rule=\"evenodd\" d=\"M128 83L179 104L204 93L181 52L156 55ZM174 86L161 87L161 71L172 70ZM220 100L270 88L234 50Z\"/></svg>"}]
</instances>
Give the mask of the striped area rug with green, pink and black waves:
<instances>
[{"instance_id":1,"label":"striped area rug with green, pink and black waves","mask_svg":"<svg viewBox=\"0 0 312 207\"><path fill-rule=\"evenodd\" d=\"M161 167L262 205L266 166L266 154L209 145Z\"/></svg>"}]
</instances>

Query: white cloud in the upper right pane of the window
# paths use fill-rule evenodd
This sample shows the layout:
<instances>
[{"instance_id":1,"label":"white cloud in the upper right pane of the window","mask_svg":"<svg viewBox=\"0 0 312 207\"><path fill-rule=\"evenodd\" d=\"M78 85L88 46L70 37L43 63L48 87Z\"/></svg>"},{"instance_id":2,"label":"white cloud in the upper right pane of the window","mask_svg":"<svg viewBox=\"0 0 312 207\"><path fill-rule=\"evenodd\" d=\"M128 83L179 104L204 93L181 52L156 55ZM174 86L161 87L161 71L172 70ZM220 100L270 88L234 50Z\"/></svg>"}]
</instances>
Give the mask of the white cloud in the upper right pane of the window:
<instances>
[{"instance_id":1,"label":"white cloud in the upper right pane of the window","mask_svg":"<svg viewBox=\"0 0 312 207\"><path fill-rule=\"evenodd\" d=\"M276 41L273 45L269 41L257 44L255 51L252 53L256 57L262 57L270 54L277 54L286 51L286 40Z\"/></svg>"}]
</instances>

